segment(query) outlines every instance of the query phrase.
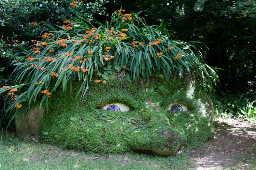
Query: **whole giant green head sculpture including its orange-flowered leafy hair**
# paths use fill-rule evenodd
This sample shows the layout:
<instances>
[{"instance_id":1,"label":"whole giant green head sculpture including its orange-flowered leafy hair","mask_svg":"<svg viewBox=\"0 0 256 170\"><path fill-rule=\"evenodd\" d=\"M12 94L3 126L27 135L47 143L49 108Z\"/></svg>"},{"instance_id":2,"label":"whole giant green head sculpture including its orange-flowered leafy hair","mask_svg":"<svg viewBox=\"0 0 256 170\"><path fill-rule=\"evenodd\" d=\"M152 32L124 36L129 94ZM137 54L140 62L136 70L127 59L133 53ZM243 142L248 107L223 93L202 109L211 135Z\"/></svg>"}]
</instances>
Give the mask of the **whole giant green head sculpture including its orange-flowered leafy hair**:
<instances>
[{"instance_id":1,"label":"whole giant green head sculpture including its orange-flowered leafy hair","mask_svg":"<svg viewBox=\"0 0 256 170\"><path fill-rule=\"evenodd\" d=\"M0 89L10 90L12 118L45 105L42 136L90 152L170 155L211 137L200 89L216 83L215 71L165 24L124 12L105 24L64 21L31 40L13 73L19 84Z\"/></svg>"}]
</instances>

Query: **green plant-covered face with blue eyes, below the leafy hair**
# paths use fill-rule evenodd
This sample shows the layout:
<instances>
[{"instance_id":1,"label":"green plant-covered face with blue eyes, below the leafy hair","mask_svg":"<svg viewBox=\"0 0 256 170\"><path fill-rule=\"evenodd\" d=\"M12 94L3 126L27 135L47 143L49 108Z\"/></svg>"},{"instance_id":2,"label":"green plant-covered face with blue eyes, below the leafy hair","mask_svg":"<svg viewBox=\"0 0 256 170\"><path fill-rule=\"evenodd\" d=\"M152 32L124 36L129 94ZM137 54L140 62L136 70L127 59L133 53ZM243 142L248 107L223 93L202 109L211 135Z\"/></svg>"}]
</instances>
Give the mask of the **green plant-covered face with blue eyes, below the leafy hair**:
<instances>
[{"instance_id":1,"label":"green plant-covered face with blue eyes, below the leafy hair","mask_svg":"<svg viewBox=\"0 0 256 170\"><path fill-rule=\"evenodd\" d=\"M149 150L160 155L200 146L213 136L194 87L180 80L151 84L155 91L112 75L105 84L92 83L82 99L75 98L76 92L59 92L54 109L41 121L41 134L49 142L87 152Z\"/></svg>"}]
</instances>

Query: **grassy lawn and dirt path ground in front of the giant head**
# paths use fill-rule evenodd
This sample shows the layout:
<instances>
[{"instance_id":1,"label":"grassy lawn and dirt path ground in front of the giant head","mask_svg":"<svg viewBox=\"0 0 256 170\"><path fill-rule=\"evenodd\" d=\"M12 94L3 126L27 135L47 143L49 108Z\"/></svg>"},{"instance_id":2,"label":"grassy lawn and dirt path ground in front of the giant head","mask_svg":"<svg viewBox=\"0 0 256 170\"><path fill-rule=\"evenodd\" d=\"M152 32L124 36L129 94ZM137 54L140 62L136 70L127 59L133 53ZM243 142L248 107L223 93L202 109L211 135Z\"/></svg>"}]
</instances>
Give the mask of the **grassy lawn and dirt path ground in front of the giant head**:
<instances>
[{"instance_id":1,"label":"grassy lawn and dirt path ground in front of the giant head","mask_svg":"<svg viewBox=\"0 0 256 170\"><path fill-rule=\"evenodd\" d=\"M213 139L168 157L87 154L0 134L0 169L256 169L256 127L239 120L215 124Z\"/></svg>"}]
</instances>

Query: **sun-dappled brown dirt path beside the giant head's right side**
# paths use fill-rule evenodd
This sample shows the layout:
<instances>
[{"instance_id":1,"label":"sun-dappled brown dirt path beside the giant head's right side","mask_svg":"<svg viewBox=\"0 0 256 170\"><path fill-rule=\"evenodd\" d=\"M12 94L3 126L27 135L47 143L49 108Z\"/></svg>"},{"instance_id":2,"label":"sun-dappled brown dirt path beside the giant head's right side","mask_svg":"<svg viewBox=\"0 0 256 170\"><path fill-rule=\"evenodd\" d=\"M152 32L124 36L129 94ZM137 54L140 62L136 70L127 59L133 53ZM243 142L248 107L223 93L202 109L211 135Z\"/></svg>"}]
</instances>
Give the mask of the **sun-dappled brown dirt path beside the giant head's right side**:
<instances>
[{"instance_id":1,"label":"sun-dappled brown dirt path beside the giant head's right side","mask_svg":"<svg viewBox=\"0 0 256 170\"><path fill-rule=\"evenodd\" d=\"M193 169L256 169L256 128L240 121L219 124L214 138L189 156Z\"/></svg>"}]
</instances>

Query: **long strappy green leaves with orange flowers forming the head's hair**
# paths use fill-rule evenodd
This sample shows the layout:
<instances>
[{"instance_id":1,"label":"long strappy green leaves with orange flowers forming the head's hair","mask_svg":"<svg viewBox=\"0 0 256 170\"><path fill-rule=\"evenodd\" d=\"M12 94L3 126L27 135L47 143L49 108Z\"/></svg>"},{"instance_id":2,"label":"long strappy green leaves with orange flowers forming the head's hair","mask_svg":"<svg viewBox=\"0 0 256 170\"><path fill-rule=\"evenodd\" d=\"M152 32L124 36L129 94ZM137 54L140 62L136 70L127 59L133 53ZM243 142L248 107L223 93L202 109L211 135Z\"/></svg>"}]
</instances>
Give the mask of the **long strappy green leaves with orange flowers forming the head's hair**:
<instances>
[{"instance_id":1,"label":"long strappy green leaves with orange flowers forming the head's hair","mask_svg":"<svg viewBox=\"0 0 256 170\"><path fill-rule=\"evenodd\" d=\"M66 92L73 81L81 82L77 96L84 96L90 81L104 83L113 71L125 71L135 82L150 82L151 76L168 81L175 75L196 80L204 89L217 82L215 71L203 63L195 46L171 39L163 24L146 26L138 14L124 12L115 11L105 24L65 20L58 29L48 25L52 31L43 33L40 41L31 40L35 45L24 51L24 62L15 64L17 85L0 89L8 91L6 113L14 118L35 104L48 109L56 88Z\"/></svg>"}]
</instances>

